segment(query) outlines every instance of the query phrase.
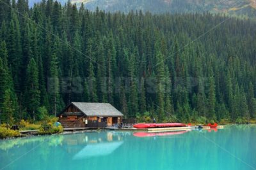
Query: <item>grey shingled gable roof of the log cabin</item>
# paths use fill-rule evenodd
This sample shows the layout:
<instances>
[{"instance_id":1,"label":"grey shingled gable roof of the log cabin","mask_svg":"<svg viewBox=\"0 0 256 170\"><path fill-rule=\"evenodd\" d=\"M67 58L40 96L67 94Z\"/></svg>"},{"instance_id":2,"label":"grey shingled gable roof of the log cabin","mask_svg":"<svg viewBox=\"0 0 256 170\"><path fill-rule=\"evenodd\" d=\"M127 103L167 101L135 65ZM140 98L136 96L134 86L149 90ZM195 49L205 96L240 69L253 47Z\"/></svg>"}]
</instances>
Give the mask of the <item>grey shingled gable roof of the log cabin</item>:
<instances>
[{"instance_id":1,"label":"grey shingled gable roof of the log cabin","mask_svg":"<svg viewBox=\"0 0 256 170\"><path fill-rule=\"evenodd\" d=\"M75 106L84 115L88 117L123 117L124 115L116 110L114 106L109 103L81 103L72 102L68 104L65 110L70 106ZM63 113L63 110L61 113Z\"/></svg>"}]
</instances>

